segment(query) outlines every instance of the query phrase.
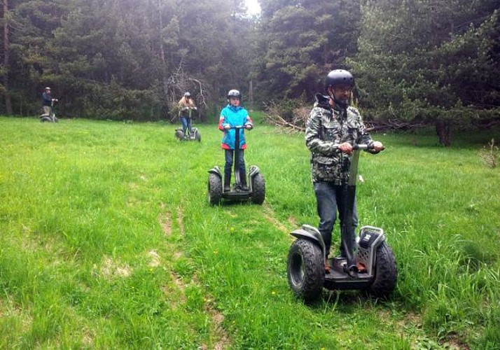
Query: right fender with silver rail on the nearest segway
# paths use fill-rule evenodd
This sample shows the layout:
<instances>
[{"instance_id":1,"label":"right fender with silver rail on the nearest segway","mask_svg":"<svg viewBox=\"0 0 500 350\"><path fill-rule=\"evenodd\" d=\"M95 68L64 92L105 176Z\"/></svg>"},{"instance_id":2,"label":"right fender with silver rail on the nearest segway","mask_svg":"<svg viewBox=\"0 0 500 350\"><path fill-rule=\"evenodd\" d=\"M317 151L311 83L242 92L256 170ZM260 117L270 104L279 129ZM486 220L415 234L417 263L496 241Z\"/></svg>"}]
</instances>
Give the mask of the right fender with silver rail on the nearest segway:
<instances>
[{"instance_id":1,"label":"right fender with silver rail on the nearest segway","mask_svg":"<svg viewBox=\"0 0 500 350\"><path fill-rule=\"evenodd\" d=\"M363 226L359 230L359 237L356 240L358 243L356 261L362 262L366 266L368 275L373 276L377 248L385 241L384 230L375 228L375 226Z\"/></svg>"}]
</instances>

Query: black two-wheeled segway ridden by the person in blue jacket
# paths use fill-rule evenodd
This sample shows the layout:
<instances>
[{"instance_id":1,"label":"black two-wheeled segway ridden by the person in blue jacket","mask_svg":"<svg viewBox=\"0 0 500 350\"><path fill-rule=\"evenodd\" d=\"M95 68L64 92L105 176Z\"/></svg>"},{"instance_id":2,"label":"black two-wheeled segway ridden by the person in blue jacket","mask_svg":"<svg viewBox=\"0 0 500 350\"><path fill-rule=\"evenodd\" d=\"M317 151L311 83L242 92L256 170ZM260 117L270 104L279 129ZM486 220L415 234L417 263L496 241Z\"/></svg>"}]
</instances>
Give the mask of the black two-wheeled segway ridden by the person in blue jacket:
<instances>
[{"instance_id":1,"label":"black two-wheeled segway ridden by the person in blue jacket","mask_svg":"<svg viewBox=\"0 0 500 350\"><path fill-rule=\"evenodd\" d=\"M235 129L235 145L239 145L239 130L244 129L244 126L231 127ZM224 191L223 171L220 167L215 166L209 170L208 192L207 199L210 204L220 204L222 200L228 201L244 201L250 200L254 204L263 204L265 200L265 180L261 174L261 170L256 165L249 167L248 174L248 189L245 189L242 181L242 176L239 172L239 147L235 148L233 153L234 160L232 162L235 172L235 183L228 186L229 191Z\"/></svg>"}]
</instances>

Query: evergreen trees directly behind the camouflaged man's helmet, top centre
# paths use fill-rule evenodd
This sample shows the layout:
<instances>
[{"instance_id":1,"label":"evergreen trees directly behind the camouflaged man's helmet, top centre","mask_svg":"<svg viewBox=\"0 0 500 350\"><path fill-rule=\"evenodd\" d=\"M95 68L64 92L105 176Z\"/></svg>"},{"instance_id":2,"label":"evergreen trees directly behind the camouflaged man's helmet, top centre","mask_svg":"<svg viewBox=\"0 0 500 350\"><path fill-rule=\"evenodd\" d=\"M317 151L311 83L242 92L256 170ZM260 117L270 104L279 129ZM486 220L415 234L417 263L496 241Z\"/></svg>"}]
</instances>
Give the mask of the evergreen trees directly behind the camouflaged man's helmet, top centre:
<instances>
[{"instance_id":1,"label":"evergreen trees directly behind the camouflaged man's helmet, top centre","mask_svg":"<svg viewBox=\"0 0 500 350\"><path fill-rule=\"evenodd\" d=\"M278 1L266 9L256 73L261 94L278 99L324 90L324 75L356 52L361 1ZM266 16L267 14L267 16Z\"/></svg>"}]
</instances>

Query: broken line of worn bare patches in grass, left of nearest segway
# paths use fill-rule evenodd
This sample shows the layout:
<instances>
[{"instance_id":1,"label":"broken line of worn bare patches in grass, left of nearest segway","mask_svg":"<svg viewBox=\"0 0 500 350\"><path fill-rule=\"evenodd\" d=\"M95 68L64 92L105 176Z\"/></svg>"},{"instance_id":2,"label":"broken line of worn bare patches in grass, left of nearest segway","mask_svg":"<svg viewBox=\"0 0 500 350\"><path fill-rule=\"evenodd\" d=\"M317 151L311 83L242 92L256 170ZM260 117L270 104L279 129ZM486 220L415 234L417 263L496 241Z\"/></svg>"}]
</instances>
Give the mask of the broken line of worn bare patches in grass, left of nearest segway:
<instances>
[{"instance_id":1,"label":"broken line of worn bare patches in grass, left of nearest segway","mask_svg":"<svg viewBox=\"0 0 500 350\"><path fill-rule=\"evenodd\" d=\"M162 204L162 209L165 209L165 204ZM172 237L172 213L170 211L165 211L165 213L160 214L158 221L160 221L160 225L162 227L165 236ZM179 205L179 207L177 207L176 209L176 224L177 227L179 228L179 235L183 236L185 234L185 227L183 223L183 210L181 205ZM175 260L184 257L183 251L177 250L176 247L173 244L170 244L169 242L167 242L166 244L168 251L173 252L172 257ZM154 254L151 252L150 255L154 256ZM171 275L172 275L172 280L176 285L176 288L179 290L181 297L181 304L186 304L187 302L186 288L188 287L188 285L182 281L182 278L181 276L179 276L179 274L171 272ZM198 282L197 276L195 274L191 278L191 283L195 283L195 285L200 287L200 289L203 289L201 284ZM163 289L163 292L166 295L168 295L169 290L167 290L166 286ZM204 297L204 311L209 315L209 318L211 319L211 324L213 325L210 337L213 339L218 339L218 341L214 344L215 350L228 349L230 347L231 342L228 332L226 332L225 329L223 328L224 315L214 307L213 299L214 298L210 297L209 295L205 295ZM206 344L202 344L200 346L200 349L207 350L209 349L209 347Z\"/></svg>"}]
</instances>

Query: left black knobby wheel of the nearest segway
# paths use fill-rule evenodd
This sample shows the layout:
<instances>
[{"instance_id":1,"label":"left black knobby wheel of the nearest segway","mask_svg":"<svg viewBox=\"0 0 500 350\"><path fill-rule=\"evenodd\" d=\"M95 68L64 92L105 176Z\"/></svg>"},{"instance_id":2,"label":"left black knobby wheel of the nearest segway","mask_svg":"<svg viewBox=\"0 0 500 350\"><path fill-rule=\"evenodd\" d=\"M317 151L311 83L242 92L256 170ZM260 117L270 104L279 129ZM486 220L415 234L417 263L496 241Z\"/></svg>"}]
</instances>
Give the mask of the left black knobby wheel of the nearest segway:
<instances>
[{"instance_id":1,"label":"left black knobby wheel of the nearest segway","mask_svg":"<svg viewBox=\"0 0 500 350\"><path fill-rule=\"evenodd\" d=\"M293 293L305 302L317 300L325 281L324 256L318 244L297 239L289 250L286 265Z\"/></svg>"}]
</instances>

